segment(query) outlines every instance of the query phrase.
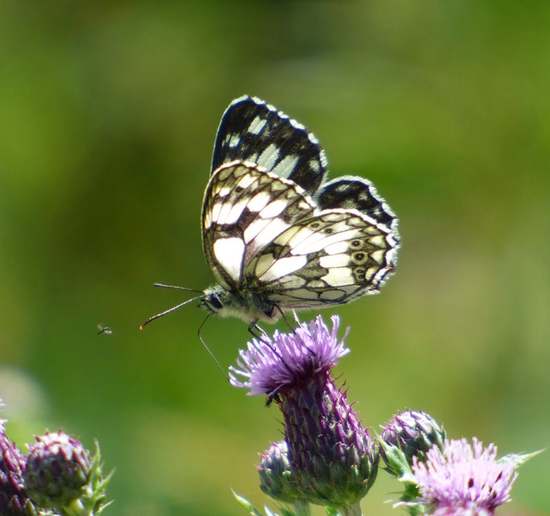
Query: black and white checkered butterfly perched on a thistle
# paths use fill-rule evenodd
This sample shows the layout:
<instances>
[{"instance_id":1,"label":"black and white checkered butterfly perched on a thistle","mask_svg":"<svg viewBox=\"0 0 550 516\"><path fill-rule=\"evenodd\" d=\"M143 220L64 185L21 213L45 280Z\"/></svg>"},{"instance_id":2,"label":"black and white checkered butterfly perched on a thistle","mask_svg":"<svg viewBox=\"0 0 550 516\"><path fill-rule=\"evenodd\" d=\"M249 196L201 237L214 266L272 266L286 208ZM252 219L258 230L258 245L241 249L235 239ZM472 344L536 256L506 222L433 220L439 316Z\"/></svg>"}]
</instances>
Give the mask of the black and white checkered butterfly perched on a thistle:
<instances>
[{"instance_id":1,"label":"black and white checkered butterfly perched on a thistle","mask_svg":"<svg viewBox=\"0 0 550 516\"><path fill-rule=\"evenodd\" d=\"M349 303L379 292L399 248L397 217L373 184L327 180L316 136L251 96L221 118L201 226L217 283L143 325L194 301L250 328L290 310Z\"/></svg>"}]
</instances>

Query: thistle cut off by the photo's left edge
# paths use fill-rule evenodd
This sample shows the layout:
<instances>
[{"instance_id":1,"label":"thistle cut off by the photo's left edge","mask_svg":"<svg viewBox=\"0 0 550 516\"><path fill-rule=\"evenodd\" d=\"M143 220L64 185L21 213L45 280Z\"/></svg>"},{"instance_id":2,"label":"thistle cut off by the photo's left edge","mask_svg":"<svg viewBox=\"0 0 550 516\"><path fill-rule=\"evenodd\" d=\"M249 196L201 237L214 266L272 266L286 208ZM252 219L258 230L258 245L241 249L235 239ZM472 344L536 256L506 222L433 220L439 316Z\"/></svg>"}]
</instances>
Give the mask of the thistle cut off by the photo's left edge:
<instances>
[{"instance_id":1,"label":"thistle cut off by the photo's left edge","mask_svg":"<svg viewBox=\"0 0 550 516\"><path fill-rule=\"evenodd\" d=\"M4 420L0 420L0 515L24 516L34 512L23 488L25 458L5 435Z\"/></svg>"}]
</instances>

